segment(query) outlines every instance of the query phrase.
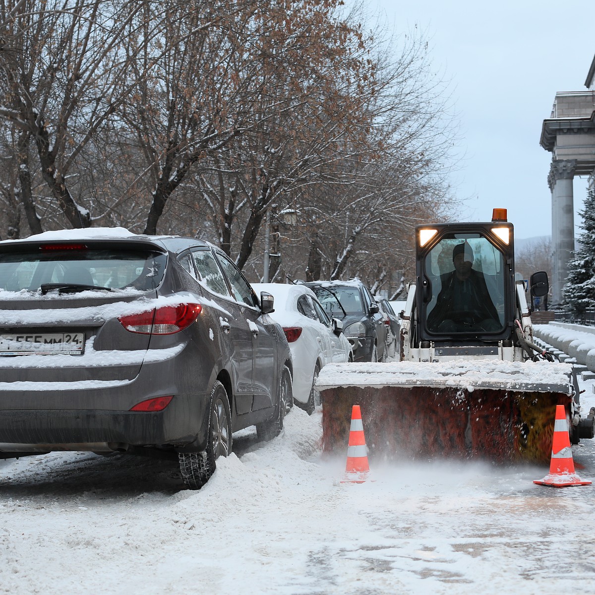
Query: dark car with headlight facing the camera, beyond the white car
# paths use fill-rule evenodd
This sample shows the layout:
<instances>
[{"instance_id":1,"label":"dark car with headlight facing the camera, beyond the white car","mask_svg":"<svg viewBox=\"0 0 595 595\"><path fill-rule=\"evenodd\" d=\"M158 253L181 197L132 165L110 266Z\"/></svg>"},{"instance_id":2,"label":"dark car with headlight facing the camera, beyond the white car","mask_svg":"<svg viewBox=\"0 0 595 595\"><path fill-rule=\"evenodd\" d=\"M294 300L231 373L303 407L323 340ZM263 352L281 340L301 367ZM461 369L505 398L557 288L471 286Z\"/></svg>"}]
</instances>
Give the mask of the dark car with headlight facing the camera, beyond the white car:
<instances>
[{"instance_id":1,"label":"dark car with headlight facing the camera, beyond the white car","mask_svg":"<svg viewBox=\"0 0 595 595\"><path fill-rule=\"evenodd\" d=\"M343 321L354 361L383 361L386 335L383 315L368 287L359 279L305 283L331 318Z\"/></svg>"}]
</instances>

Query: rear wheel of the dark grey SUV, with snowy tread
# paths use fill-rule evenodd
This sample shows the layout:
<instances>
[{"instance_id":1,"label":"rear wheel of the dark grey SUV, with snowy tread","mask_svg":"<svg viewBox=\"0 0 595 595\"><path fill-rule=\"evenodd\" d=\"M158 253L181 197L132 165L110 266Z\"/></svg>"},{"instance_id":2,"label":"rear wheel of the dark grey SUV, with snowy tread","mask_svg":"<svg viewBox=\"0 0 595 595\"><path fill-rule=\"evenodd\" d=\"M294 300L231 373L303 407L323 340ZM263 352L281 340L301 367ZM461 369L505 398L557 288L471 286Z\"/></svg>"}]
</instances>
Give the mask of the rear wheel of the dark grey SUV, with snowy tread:
<instances>
[{"instance_id":1,"label":"rear wheel of the dark grey SUV, with snowy tread","mask_svg":"<svg viewBox=\"0 0 595 595\"><path fill-rule=\"evenodd\" d=\"M231 412L223 384L215 381L210 399L206 449L179 453L180 473L186 486L199 490L215 472L215 461L231 452Z\"/></svg>"}]
</instances>

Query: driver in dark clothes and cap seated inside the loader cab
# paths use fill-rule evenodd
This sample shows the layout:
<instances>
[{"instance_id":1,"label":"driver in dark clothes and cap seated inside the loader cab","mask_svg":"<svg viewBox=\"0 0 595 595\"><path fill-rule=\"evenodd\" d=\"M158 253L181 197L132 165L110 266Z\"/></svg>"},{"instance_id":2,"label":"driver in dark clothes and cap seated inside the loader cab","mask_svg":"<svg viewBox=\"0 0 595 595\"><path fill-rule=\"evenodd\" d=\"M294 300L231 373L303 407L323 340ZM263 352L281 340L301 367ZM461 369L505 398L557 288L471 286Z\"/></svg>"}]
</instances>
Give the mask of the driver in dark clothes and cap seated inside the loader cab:
<instances>
[{"instance_id":1,"label":"driver in dark clothes and cap seated inside the loader cab","mask_svg":"<svg viewBox=\"0 0 595 595\"><path fill-rule=\"evenodd\" d=\"M452 251L455 270L440 276L442 289L428 315L428 330L434 333L496 332L502 328L481 271L473 268L473 250L468 242Z\"/></svg>"}]
</instances>

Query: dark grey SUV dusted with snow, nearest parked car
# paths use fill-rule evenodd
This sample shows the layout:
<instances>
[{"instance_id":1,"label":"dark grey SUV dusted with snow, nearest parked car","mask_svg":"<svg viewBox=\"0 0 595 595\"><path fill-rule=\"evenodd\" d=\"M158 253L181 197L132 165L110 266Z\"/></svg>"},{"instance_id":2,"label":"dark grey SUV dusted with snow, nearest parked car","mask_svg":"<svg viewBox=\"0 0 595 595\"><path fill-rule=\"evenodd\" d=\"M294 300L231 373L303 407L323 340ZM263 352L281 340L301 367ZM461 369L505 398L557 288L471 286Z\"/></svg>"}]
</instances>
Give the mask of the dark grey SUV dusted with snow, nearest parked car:
<instances>
[{"instance_id":1,"label":"dark grey SUV dusted with snow, nearest parked car","mask_svg":"<svg viewBox=\"0 0 595 595\"><path fill-rule=\"evenodd\" d=\"M0 458L174 453L200 488L231 434L280 433L283 329L218 248L122 228L0 242Z\"/></svg>"}]
</instances>

